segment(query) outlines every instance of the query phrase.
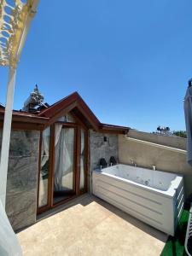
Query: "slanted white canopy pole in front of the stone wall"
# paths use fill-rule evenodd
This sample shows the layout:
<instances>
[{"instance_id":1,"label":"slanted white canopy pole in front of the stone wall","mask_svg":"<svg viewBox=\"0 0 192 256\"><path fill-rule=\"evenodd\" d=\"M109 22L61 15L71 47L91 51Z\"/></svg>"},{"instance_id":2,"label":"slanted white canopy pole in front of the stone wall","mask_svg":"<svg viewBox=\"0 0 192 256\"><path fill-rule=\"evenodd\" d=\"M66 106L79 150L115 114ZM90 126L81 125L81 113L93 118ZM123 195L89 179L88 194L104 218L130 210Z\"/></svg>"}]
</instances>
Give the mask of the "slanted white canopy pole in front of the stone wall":
<instances>
[{"instance_id":1,"label":"slanted white canopy pole in front of the stone wall","mask_svg":"<svg viewBox=\"0 0 192 256\"><path fill-rule=\"evenodd\" d=\"M9 67L9 81L7 87L7 99L4 112L3 121L3 137L2 137L2 150L1 150L1 162L0 162L0 199L5 207L6 200L6 187L7 187L7 174L8 174L8 162L9 162L9 143L11 133L11 121L12 110L14 102L14 90L15 90L15 75L16 67Z\"/></svg>"}]
</instances>

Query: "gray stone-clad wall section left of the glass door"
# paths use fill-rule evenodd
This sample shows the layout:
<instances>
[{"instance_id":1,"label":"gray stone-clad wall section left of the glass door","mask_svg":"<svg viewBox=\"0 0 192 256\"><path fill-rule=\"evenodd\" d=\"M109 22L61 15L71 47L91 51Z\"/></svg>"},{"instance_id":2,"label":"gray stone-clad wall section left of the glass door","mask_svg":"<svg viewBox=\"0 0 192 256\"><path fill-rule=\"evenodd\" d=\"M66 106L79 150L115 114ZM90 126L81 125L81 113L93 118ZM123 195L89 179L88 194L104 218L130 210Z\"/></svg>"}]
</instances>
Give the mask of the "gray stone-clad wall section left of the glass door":
<instances>
[{"instance_id":1,"label":"gray stone-clad wall section left of the glass door","mask_svg":"<svg viewBox=\"0 0 192 256\"><path fill-rule=\"evenodd\" d=\"M39 131L11 132L6 212L14 230L36 221L39 137Z\"/></svg>"}]
</instances>

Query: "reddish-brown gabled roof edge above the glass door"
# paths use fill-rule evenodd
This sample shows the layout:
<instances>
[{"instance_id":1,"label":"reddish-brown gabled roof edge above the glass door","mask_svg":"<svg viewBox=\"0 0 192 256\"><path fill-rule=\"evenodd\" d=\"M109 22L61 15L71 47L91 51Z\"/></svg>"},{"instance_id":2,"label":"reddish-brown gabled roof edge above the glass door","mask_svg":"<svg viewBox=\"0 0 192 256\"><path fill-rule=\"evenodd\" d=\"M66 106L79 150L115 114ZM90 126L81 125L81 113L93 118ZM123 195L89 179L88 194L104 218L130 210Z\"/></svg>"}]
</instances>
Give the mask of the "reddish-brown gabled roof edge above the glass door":
<instances>
[{"instance_id":1,"label":"reddish-brown gabled roof edge above the glass door","mask_svg":"<svg viewBox=\"0 0 192 256\"><path fill-rule=\"evenodd\" d=\"M27 113L21 111L13 112L13 122L33 123L38 124L39 130L55 123L57 119L67 113L79 119L87 128L101 132L113 132L125 134L129 131L129 127L119 125L102 124L96 115L90 110L77 91L71 95L55 102L48 108L42 109L38 113ZM0 120L3 120L4 110L0 109ZM26 126L26 125L25 125Z\"/></svg>"}]
</instances>

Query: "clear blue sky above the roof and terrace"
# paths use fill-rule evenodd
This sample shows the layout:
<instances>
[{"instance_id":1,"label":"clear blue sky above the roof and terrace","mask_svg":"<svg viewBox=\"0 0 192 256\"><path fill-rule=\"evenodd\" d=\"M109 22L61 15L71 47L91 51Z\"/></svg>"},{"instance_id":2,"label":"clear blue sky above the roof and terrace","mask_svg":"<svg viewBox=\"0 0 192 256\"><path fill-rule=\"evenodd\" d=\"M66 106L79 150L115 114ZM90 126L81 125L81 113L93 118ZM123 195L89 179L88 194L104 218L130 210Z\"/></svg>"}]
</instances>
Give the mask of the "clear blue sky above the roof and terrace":
<instances>
[{"instance_id":1,"label":"clear blue sky above the roof and terrace","mask_svg":"<svg viewBox=\"0 0 192 256\"><path fill-rule=\"evenodd\" d=\"M14 107L22 108L38 84L49 104L79 91L104 123L184 130L191 10L191 0L40 0L17 70ZM6 67L0 77L4 102Z\"/></svg>"}]
</instances>

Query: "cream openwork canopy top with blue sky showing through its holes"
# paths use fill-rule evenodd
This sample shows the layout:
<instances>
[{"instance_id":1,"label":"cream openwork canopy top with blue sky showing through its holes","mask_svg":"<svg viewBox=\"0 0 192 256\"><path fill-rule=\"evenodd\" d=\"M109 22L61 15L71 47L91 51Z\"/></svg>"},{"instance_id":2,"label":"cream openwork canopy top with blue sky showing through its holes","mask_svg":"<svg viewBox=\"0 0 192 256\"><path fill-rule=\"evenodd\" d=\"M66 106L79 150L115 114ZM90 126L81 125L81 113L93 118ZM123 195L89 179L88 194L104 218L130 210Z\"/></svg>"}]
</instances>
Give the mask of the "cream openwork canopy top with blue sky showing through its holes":
<instances>
[{"instance_id":1,"label":"cream openwork canopy top with blue sky showing through its holes","mask_svg":"<svg viewBox=\"0 0 192 256\"><path fill-rule=\"evenodd\" d=\"M0 0L0 65L15 67L20 59L20 41L25 34L35 0ZM34 9L35 10L35 9Z\"/></svg>"}]
</instances>

